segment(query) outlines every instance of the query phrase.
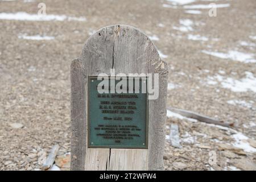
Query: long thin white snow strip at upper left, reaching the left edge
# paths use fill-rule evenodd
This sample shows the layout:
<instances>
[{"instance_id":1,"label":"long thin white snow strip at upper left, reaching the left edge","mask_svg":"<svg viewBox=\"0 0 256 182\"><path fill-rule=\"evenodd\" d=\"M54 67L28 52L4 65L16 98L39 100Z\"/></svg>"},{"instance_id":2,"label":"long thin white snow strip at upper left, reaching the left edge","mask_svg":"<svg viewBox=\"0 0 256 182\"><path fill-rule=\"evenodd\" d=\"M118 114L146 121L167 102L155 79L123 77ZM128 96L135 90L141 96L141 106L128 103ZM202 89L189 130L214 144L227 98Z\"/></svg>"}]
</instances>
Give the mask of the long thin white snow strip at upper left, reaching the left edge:
<instances>
[{"instance_id":1,"label":"long thin white snow strip at upper left, reaching the left edge","mask_svg":"<svg viewBox=\"0 0 256 182\"><path fill-rule=\"evenodd\" d=\"M18 13L0 13L0 19L5 20L21 20L21 21L86 21L85 17L73 17L67 15L38 15L38 14L28 14L26 12L18 12Z\"/></svg>"}]
</instances>

